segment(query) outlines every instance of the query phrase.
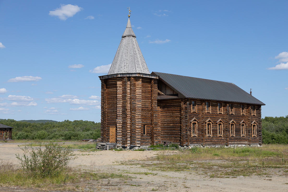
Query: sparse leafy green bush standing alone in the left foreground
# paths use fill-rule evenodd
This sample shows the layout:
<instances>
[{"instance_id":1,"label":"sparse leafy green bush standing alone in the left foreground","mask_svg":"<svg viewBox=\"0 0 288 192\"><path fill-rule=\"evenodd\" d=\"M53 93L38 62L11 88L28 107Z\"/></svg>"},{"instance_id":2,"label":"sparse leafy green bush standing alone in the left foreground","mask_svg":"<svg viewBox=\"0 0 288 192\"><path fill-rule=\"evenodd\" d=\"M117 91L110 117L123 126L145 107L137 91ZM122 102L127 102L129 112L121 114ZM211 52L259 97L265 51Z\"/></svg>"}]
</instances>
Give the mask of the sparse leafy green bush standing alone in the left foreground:
<instances>
[{"instance_id":1,"label":"sparse leafy green bush standing alone in the left foreground","mask_svg":"<svg viewBox=\"0 0 288 192\"><path fill-rule=\"evenodd\" d=\"M32 147L32 145L25 145L21 148L24 151L22 157L16 154L16 158L20 160L22 169L29 176L53 176L59 174L65 166L68 164L69 160L73 160L74 153L72 149L62 147L58 143L50 142L44 144L40 143L40 147ZM29 154L29 155L28 155Z\"/></svg>"}]
</instances>

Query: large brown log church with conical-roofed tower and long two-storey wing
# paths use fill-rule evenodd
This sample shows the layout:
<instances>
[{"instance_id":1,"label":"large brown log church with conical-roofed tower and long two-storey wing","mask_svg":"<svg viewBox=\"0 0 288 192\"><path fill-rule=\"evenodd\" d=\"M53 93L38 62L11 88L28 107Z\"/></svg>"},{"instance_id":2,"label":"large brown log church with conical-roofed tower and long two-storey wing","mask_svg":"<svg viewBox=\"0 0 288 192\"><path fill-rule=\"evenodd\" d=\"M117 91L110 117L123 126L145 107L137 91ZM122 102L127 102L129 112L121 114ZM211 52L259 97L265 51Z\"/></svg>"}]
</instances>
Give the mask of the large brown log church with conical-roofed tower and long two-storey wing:
<instances>
[{"instance_id":1,"label":"large brown log church with conical-roofed tower and long two-storey wing","mask_svg":"<svg viewBox=\"0 0 288 192\"><path fill-rule=\"evenodd\" d=\"M262 145L263 102L234 83L150 73L130 18L108 75L99 78L101 142Z\"/></svg>"}]
</instances>

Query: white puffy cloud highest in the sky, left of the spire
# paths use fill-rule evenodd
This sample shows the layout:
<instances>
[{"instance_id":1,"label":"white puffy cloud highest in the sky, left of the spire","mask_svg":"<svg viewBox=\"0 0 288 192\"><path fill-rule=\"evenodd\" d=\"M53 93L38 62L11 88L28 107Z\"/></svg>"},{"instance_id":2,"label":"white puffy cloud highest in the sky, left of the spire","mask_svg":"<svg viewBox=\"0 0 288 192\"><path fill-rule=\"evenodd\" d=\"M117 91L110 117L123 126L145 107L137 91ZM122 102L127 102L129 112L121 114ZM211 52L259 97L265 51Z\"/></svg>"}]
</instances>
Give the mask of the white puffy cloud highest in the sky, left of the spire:
<instances>
[{"instance_id":1,"label":"white puffy cloud highest in the sky, left of the spire","mask_svg":"<svg viewBox=\"0 0 288 192\"><path fill-rule=\"evenodd\" d=\"M83 8L78 5L63 5L60 8L50 11L49 15L57 16L61 20L66 20L68 17L73 17L77 12L81 11Z\"/></svg>"}]
</instances>

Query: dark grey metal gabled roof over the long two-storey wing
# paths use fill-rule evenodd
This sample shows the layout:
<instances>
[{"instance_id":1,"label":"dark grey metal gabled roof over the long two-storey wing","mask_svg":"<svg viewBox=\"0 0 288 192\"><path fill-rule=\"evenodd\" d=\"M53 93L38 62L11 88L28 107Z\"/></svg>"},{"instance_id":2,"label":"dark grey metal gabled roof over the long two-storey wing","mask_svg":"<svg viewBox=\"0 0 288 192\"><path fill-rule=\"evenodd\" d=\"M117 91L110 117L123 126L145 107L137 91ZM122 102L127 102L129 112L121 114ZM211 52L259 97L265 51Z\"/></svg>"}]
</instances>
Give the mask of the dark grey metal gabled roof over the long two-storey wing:
<instances>
[{"instance_id":1,"label":"dark grey metal gabled roof over the long two-storey wing","mask_svg":"<svg viewBox=\"0 0 288 192\"><path fill-rule=\"evenodd\" d=\"M160 72L152 72L151 74L159 75L161 81L184 98L265 105L234 83Z\"/></svg>"}]
</instances>

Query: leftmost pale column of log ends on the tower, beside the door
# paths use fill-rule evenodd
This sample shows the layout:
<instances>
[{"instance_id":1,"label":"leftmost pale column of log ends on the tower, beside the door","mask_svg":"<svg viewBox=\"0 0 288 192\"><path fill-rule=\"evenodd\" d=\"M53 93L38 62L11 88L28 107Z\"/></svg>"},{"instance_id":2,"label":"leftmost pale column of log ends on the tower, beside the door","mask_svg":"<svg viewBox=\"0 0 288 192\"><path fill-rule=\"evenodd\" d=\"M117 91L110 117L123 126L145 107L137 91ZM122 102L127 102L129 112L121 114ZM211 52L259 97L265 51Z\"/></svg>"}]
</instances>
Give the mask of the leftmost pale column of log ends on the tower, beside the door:
<instances>
[{"instance_id":1,"label":"leftmost pale column of log ends on the tower, beside the door","mask_svg":"<svg viewBox=\"0 0 288 192\"><path fill-rule=\"evenodd\" d=\"M122 145L122 80L117 79L117 119L116 119L116 142L118 146Z\"/></svg>"}]
</instances>

